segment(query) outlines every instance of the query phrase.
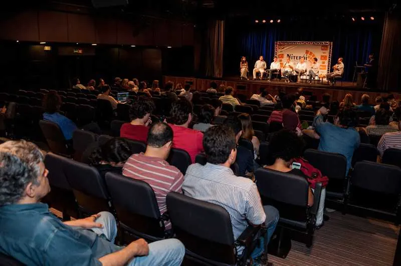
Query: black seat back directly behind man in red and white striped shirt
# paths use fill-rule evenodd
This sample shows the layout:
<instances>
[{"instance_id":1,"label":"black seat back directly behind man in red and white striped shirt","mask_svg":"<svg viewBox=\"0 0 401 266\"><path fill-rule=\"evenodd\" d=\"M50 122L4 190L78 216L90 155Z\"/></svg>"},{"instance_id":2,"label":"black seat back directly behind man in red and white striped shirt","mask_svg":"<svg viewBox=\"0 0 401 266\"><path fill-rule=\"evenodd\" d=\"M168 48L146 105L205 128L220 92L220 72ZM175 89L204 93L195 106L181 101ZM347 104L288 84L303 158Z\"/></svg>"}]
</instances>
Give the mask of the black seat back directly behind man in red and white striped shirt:
<instances>
[{"instance_id":1,"label":"black seat back directly behind man in red and white striped shirt","mask_svg":"<svg viewBox=\"0 0 401 266\"><path fill-rule=\"evenodd\" d=\"M112 172L106 173L106 183L120 226L150 241L163 237L164 223L148 183Z\"/></svg>"}]
</instances>

